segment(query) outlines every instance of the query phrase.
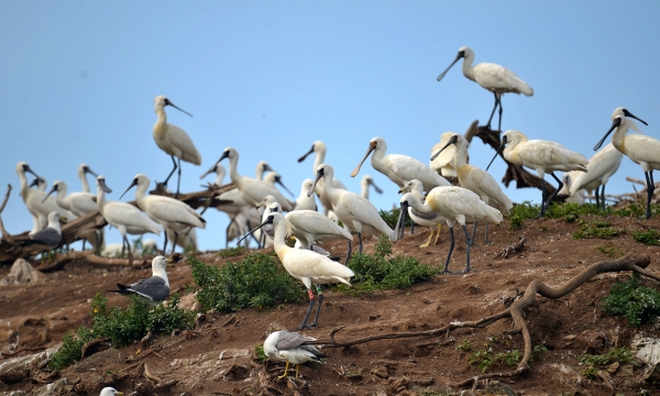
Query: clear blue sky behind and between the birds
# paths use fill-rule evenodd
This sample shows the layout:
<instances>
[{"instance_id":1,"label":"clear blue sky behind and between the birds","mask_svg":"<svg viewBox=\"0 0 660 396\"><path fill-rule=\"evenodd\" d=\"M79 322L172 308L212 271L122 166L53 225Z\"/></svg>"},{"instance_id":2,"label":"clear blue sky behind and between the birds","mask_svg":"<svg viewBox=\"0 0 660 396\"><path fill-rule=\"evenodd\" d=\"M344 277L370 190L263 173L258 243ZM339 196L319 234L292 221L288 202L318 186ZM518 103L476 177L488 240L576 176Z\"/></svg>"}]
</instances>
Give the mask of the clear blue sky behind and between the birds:
<instances>
[{"instance_id":1,"label":"clear blue sky behind and between the birds","mask_svg":"<svg viewBox=\"0 0 660 396\"><path fill-rule=\"evenodd\" d=\"M493 96L460 65L436 81L463 45L475 63L504 65L535 90L504 96L503 130L591 157L624 106L658 138L659 15L657 1L0 2L0 185L14 187L2 219L11 233L32 228L19 161L69 191L80 189L86 162L113 200L138 173L163 179L172 162L152 136L156 95L194 114L167 108L202 156L201 166L184 164L183 191L198 190L233 146L241 174L264 160L297 194L312 160L296 160L322 140L336 175L355 191L372 175L385 190L372 201L389 209L397 188L371 164L349 176L373 136L427 163L442 132L487 121ZM475 141L471 163L485 167L493 154ZM501 179L504 169L496 161L491 172ZM607 193L630 191L626 176L644 178L624 158ZM539 190L506 193L540 199ZM200 249L224 246L227 217L205 217Z\"/></svg>"}]
</instances>

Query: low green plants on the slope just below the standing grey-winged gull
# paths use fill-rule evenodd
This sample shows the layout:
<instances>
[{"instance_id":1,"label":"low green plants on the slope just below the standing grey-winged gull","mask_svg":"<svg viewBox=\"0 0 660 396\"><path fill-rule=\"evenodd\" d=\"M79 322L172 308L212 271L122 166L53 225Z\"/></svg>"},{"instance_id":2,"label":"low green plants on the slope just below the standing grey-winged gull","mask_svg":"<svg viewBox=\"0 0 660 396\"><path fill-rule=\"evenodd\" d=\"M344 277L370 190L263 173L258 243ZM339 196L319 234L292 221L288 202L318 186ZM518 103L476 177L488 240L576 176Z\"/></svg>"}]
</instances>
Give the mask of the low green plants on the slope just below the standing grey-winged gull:
<instances>
[{"instance_id":1,"label":"low green plants on the slope just below the standing grey-winged gull","mask_svg":"<svg viewBox=\"0 0 660 396\"><path fill-rule=\"evenodd\" d=\"M142 339L148 330L155 334L168 334L174 330L191 329L195 312L178 307L178 294L169 297L167 306L158 304L150 308L138 297L124 309L110 308L108 299L97 294L91 301L89 315L94 320L91 329L80 327L75 334L67 332L62 346L53 354L48 363L51 369L61 370L80 360L82 346L99 338L109 338L113 346L125 346Z\"/></svg>"}]
</instances>

